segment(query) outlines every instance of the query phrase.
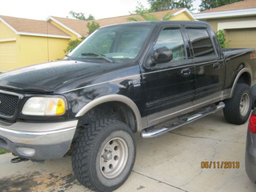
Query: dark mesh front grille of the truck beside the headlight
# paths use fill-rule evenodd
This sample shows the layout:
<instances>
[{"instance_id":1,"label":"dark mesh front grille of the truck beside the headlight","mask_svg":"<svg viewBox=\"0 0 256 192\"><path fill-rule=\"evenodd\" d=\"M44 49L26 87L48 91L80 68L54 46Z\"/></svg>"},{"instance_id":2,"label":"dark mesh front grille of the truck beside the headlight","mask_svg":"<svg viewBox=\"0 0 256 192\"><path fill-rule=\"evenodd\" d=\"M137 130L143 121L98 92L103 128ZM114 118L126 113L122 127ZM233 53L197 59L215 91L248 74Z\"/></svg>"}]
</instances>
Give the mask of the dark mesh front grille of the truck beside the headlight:
<instances>
[{"instance_id":1,"label":"dark mesh front grille of the truck beside the headlight","mask_svg":"<svg viewBox=\"0 0 256 192\"><path fill-rule=\"evenodd\" d=\"M18 96L0 93L0 115L12 117L15 113Z\"/></svg>"}]
</instances>

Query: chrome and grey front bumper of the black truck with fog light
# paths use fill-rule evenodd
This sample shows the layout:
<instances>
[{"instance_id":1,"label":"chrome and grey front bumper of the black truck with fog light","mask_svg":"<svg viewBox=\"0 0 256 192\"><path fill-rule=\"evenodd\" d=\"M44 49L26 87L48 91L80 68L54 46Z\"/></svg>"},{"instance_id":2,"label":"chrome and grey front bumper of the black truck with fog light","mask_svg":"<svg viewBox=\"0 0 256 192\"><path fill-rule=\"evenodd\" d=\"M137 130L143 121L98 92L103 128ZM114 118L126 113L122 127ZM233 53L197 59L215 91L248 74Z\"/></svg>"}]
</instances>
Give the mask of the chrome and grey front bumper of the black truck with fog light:
<instances>
[{"instance_id":1,"label":"chrome and grey front bumper of the black truck with fog light","mask_svg":"<svg viewBox=\"0 0 256 192\"><path fill-rule=\"evenodd\" d=\"M27 159L60 158L69 151L76 126L77 120L56 123L0 122L0 148Z\"/></svg>"}]
</instances>

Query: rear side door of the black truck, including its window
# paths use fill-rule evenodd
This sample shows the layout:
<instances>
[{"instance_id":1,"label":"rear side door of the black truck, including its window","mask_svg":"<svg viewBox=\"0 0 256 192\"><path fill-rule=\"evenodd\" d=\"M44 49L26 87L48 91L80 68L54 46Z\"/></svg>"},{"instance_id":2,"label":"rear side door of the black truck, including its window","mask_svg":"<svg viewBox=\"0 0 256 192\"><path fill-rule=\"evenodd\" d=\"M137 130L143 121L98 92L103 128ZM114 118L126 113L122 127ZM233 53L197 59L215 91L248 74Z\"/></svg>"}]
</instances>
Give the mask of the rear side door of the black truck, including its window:
<instances>
[{"instance_id":1,"label":"rear side door of the black truck, including its window","mask_svg":"<svg viewBox=\"0 0 256 192\"><path fill-rule=\"evenodd\" d=\"M223 89L224 61L217 51L214 33L206 26L194 27L186 27L196 70L194 105L217 102Z\"/></svg>"}]
</instances>

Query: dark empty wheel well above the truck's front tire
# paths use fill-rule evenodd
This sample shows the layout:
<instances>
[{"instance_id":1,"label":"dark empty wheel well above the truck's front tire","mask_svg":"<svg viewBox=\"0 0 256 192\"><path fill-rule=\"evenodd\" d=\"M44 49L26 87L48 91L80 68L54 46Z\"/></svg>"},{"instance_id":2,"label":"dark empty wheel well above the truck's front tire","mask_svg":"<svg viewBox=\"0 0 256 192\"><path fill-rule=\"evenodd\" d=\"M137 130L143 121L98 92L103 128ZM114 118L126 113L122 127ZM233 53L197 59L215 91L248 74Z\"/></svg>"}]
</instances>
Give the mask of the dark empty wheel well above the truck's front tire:
<instances>
[{"instance_id":1,"label":"dark empty wheel well above the truck's front tire","mask_svg":"<svg viewBox=\"0 0 256 192\"><path fill-rule=\"evenodd\" d=\"M110 101L95 106L79 118L78 124L84 125L99 119L115 119L122 121L130 126L134 133L137 131L136 118L132 109L119 101Z\"/></svg>"}]
</instances>

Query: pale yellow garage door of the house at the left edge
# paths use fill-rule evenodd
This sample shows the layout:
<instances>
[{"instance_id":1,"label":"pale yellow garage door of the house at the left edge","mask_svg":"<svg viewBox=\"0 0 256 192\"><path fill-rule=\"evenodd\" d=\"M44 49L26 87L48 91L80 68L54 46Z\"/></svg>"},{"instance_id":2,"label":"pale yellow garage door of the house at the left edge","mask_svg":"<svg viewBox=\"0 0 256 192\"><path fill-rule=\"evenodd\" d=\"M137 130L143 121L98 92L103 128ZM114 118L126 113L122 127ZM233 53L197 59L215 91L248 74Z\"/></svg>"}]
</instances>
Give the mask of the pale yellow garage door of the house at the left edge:
<instances>
[{"instance_id":1,"label":"pale yellow garage door of the house at the left edge","mask_svg":"<svg viewBox=\"0 0 256 192\"><path fill-rule=\"evenodd\" d=\"M0 41L0 70L10 70L16 65L16 41Z\"/></svg>"}]
</instances>

